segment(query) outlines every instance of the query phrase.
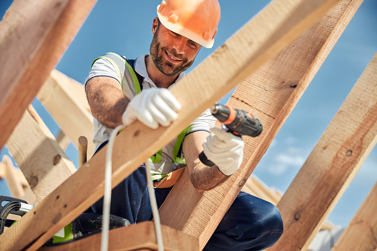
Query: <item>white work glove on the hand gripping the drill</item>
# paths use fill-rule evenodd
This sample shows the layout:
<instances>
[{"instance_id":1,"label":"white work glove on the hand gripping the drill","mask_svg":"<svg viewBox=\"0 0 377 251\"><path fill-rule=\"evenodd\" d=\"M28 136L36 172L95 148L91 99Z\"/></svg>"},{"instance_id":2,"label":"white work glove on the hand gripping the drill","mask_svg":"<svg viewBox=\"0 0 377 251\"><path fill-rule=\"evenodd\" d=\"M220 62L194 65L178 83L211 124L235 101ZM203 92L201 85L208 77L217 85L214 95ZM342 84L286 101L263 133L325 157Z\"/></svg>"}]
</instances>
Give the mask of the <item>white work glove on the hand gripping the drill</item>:
<instances>
[{"instance_id":1,"label":"white work glove on the hand gripping the drill","mask_svg":"<svg viewBox=\"0 0 377 251\"><path fill-rule=\"evenodd\" d=\"M241 137L217 127L211 128L211 135L203 143L204 154L219 170L229 176L241 166L244 156L244 141Z\"/></svg>"}]
</instances>

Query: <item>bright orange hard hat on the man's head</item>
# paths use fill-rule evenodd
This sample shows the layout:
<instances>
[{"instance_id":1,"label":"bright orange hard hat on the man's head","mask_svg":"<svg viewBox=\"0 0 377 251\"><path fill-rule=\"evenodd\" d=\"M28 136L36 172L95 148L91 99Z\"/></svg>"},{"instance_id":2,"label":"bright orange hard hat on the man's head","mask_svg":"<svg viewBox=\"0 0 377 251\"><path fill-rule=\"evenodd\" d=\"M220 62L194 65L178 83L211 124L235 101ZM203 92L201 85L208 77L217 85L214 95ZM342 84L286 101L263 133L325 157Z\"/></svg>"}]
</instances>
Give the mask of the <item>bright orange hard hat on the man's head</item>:
<instances>
[{"instance_id":1,"label":"bright orange hard hat on the man's head","mask_svg":"<svg viewBox=\"0 0 377 251\"><path fill-rule=\"evenodd\" d=\"M211 48L220 21L218 0L163 0L157 6L160 22L170 31Z\"/></svg>"}]
</instances>

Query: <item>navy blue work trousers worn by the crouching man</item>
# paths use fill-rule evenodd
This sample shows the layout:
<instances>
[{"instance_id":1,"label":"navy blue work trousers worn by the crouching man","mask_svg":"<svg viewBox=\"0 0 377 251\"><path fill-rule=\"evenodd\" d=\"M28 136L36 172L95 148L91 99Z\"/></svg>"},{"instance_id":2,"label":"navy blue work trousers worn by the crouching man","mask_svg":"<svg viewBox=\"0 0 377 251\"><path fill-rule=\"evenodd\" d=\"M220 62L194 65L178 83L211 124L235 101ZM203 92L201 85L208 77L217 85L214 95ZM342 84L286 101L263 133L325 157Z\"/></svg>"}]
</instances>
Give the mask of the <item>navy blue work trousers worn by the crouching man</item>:
<instances>
[{"instance_id":1,"label":"navy blue work trousers worn by the crouching man","mask_svg":"<svg viewBox=\"0 0 377 251\"><path fill-rule=\"evenodd\" d=\"M131 224L151 220L148 189L146 168L142 165L112 190L110 214L124 217ZM171 189L155 188L158 207ZM95 203L97 213L102 213L102 206L103 199ZM283 222L273 204L240 192L203 250L263 250L272 246L282 233Z\"/></svg>"}]
</instances>

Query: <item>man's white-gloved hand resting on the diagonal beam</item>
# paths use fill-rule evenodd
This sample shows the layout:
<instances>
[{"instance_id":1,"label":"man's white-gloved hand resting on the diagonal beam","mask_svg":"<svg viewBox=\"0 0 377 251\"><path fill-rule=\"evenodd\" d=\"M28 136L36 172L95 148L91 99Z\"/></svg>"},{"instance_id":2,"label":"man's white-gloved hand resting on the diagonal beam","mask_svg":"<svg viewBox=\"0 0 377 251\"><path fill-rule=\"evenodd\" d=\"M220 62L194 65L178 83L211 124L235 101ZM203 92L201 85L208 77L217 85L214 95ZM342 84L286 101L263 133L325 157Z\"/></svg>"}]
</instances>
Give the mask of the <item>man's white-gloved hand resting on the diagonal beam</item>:
<instances>
[{"instance_id":1,"label":"man's white-gloved hand resting on the diagonal beam","mask_svg":"<svg viewBox=\"0 0 377 251\"><path fill-rule=\"evenodd\" d=\"M165 88L150 88L143 90L128 103L122 116L125 126L139 120L152 129L158 124L169 126L170 122L178 118L182 106L178 100Z\"/></svg>"}]
</instances>

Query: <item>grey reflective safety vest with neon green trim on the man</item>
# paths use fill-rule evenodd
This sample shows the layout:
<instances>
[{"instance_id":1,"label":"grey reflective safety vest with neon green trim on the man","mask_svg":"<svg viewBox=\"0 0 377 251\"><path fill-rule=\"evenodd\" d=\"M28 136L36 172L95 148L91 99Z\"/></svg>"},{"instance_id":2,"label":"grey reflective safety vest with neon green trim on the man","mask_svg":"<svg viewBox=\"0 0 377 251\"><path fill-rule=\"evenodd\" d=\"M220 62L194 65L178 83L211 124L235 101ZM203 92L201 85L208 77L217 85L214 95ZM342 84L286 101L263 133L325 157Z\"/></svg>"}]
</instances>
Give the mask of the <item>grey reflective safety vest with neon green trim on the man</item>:
<instances>
[{"instance_id":1,"label":"grey reflective safety vest with neon green trim on the man","mask_svg":"<svg viewBox=\"0 0 377 251\"><path fill-rule=\"evenodd\" d=\"M139 93L141 93L141 87L140 86L141 86L142 83L139 82L139 80L136 76L135 70L132 68L132 66L126 60L125 57L122 57L118 54L109 52L109 53L106 53L105 55L103 55L101 57L96 58L93 61L92 66L93 66L94 62L97 61L100 58L104 58L107 61L109 61L110 64L112 64L112 66L114 67L114 69L116 71L116 74L118 75L118 78L121 80L122 91L123 91L124 84L128 84L129 87L131 87L130 88L131 90L135 90L135 95L138 95ZM183 158L177 157L177 155L179 153L179 149L181 148L183 138L184 138L184 136L187 132L187 128L188 127L186 127L181 133L179 133L179 135L177 137L177 141L175 142L175 145L173 147L172 163L186 164L185 160ZM161 153L162 153L162 148L160 148L160 150L158 150L158 152L156 152L155 156L150 156L148 158L148 161L152 162L152 163L161 162L161 159L162 159ZM152 174L152 180L161 179L161 178L164 178L165 176L166 176L166 174Z\"/></svg>"}]
</instances>

